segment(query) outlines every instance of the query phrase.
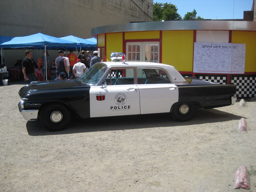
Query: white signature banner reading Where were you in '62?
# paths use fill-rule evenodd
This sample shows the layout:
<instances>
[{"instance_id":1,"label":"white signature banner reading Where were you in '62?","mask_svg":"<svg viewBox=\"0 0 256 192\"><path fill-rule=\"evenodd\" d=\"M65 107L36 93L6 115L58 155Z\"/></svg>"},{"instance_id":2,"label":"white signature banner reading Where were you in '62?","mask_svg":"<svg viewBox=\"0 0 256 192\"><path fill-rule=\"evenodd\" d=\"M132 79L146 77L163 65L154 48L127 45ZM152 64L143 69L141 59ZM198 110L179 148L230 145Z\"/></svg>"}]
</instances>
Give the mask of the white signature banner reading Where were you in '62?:
<instances>
[{"instance_id":1,"label":"white signature banner reading Where were you in '62?","mask_svg":"<svg viewBox=\"0 0 256 192\"><path fill-rule=\"evenodd\" d=\"M245 44L194 43L194 73L244 74Z\"/></svg>"}]
</instances>

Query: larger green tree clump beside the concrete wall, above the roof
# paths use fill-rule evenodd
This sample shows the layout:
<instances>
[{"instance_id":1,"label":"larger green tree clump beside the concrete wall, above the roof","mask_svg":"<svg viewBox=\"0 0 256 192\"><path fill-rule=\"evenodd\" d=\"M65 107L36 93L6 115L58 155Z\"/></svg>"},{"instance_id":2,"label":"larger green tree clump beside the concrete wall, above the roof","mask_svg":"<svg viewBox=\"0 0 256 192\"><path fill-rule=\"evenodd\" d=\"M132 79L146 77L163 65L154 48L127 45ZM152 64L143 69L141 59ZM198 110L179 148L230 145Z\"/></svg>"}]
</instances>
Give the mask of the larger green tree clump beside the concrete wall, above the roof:
<instances>
[{"instance_id":1,"label":"larger green tree clump beside the concrete wall, above the roof","mask_svg":"<svg viewBox=\"0 0 256 192\"><path fill-rule=\"evenodd\" d=\"M154 3L153 4L153 20L180 20L181 16L178 14L177 6L171 3Z\"/></svg>"}]
</instances>

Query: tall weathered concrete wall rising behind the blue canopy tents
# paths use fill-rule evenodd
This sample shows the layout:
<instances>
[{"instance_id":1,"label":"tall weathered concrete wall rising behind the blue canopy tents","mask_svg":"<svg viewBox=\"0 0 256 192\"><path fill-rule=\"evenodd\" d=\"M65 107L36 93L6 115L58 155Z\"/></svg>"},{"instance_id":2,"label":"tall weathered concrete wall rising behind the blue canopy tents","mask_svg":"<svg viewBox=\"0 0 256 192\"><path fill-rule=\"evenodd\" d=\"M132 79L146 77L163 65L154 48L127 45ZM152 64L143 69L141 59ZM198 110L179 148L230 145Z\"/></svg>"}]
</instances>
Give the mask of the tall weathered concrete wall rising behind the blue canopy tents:
<instances>
[{"instance_id":1,"label":"tall weathered concrete wall rising behind the blue canopy tents","mask_svg":"<svg viewBox=\"0 0 256 192\"><path fill-rule=\"evenodd\" d=\"M1 0L0 4L0 36L43 33L90 38L94 27L153 18L153 0ZM51 60L58 56L57 51L49 54ZM34 51L37 61L36 55ZM25 57L25 50L4 50L3 56L4 64L12 67Z\"/></svg>"}]
</instances>

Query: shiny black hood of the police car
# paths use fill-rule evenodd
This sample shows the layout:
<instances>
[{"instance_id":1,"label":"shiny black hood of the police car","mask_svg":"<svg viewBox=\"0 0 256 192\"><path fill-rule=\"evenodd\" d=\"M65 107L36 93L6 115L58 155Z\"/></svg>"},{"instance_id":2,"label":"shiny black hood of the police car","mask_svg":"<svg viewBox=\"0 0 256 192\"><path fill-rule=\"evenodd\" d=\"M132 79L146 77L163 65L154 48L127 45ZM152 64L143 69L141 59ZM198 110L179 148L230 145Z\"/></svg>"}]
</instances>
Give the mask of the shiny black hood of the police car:
<instances>
[{"instance_id":1,"label":"shiny black hood of the police car","mask_svg":"<svg viewBox=\"0 0 256 192\"><path fill-rule=\"evenodd\" d=\"M72 88L81 86L82 84L78 82L78 80L59 80L59 81L42 81L42 82L32 82L22 87L19 91L20 98L23 98L26 94L41 92L41 91L49 91L51 94L52 90L61 90L66 88ZM70 90L71 91L71 90Z\"/></svg>"}]
</instances>

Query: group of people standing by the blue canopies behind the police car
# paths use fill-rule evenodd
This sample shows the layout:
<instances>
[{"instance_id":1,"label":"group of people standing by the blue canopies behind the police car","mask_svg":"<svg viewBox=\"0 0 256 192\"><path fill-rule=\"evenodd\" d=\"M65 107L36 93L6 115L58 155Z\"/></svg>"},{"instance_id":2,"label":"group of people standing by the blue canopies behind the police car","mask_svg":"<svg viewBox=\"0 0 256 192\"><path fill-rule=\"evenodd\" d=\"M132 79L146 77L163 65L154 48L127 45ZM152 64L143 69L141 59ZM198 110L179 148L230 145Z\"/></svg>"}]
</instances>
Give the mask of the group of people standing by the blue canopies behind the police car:
<instances>
[{"instance_id":1,"label":"group of people standing by the blue canopies behind the police car","mask_svg":"<svg viewBox=\"0 0 256 192\"><path fill-rule=\"evenodd\" d=\"M88 68L101 61L101 58L98 57L98 51L93 52L94 57L90 55L90 51L86 51L86 53L85 51L80 51L77 56L73 53L72 49L69 52L67 55L63 50L59 50L59 57L56 57L52 64L50 64L48 51L46 53L43 52L44 56L39 57L36 63L32 59L32 52L26 50L26 57L23 60L17 60L15 67L22 68L24 79L29 84L31 81L38 79L36 68L42 69L45 80L72 79L79 78ZM51 76L49 76L48 70L50 70Z\"/></svg>"}]
</instances>

